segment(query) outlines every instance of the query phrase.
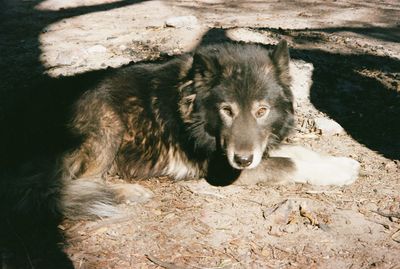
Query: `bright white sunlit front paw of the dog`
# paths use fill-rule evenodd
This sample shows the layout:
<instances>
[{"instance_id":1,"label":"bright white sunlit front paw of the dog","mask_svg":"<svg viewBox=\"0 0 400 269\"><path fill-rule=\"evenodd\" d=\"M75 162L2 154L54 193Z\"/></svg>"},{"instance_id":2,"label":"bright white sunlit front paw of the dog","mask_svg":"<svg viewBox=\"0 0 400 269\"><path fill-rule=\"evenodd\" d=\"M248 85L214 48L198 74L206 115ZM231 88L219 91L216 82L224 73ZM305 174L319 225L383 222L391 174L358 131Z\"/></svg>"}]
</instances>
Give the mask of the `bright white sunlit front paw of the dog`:
<instances>
[{"instance_id":1,"label":"bright white sunlit front paw of the dog","mask_svg":"<svg viewBox=\"0 0 400 269\"><path fill-rule=\"evenodd\" d=\"M312 185L349 185L357 179L360 170L359 162L347 157L324 157L295 164L294 180Z\"/></svg>"}]
</instances>

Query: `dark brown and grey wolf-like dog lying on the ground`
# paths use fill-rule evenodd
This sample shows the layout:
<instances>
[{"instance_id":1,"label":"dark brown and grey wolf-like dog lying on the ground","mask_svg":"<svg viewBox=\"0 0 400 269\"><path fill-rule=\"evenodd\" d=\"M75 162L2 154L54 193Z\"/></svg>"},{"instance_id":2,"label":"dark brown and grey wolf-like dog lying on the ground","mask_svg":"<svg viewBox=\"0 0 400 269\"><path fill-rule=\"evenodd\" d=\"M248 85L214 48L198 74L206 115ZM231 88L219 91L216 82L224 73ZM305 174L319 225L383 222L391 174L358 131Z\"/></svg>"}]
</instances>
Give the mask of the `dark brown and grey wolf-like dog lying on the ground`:
<instances>
[{"instance_id":1,"label":"dark brown and grey wolf-like dog lying on the ground","mask_svg":"<svg viewBox=\"0 0 400 269\"><path fill-rule=\"evenodd\" d=\"M118 203L151 197L138 184L106 184L110 174L213 185L351 184L357 161L282 143L294 125L289 62L286 41L273 50L226 43L111 70L72 108L77 146L53 169L2 181L14 205L7 210L25 218L110 217Z\"/></svg>"}]
</instances>

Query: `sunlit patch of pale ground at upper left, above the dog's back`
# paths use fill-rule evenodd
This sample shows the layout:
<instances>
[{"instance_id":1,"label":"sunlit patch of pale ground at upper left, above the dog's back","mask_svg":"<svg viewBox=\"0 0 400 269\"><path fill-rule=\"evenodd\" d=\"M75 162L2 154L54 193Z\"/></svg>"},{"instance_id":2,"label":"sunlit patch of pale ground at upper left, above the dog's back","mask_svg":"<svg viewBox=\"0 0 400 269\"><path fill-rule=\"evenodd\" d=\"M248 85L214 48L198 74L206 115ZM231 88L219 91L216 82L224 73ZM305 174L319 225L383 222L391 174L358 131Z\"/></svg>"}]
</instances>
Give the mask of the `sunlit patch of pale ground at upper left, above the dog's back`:
<instances>
[{"instance_id":1,"label":"sunlit patch of pale ground at upper left, above the dog's back","mask_svg":"<svg viewBox=\"0 0 400 269\"><path fill-rule=\"evenodd\" d=\"M206 28L201 23L166 27L165 21L176 15L151 1L65 18L39 36L40 61L56 77L190 51Z\"/></svg>"}]
</instances>

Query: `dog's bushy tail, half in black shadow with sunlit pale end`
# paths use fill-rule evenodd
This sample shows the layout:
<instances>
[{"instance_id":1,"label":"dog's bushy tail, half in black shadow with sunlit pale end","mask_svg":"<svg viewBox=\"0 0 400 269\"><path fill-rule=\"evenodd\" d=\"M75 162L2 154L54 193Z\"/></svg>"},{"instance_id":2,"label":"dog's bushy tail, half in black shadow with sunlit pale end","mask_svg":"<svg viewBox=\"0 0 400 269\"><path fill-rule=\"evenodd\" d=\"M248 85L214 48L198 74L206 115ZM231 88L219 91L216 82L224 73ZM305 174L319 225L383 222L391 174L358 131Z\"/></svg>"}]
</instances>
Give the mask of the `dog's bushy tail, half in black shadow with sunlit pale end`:
<instances>
[{"instance_id":1,"label":"dog's bushy tail, half in black shadow with sunlit pale end","mask_svg":"<svg viewBox=\"0 0 400 269\"><path fill-rule=\"evenodd\" d=\"M57 164L29 164L0 178L2 212L29 219L93 219L118 214L118 193L100 178L71 179ZM11 176L11 174L14 174Z\"/></svg>"}]
</instances>

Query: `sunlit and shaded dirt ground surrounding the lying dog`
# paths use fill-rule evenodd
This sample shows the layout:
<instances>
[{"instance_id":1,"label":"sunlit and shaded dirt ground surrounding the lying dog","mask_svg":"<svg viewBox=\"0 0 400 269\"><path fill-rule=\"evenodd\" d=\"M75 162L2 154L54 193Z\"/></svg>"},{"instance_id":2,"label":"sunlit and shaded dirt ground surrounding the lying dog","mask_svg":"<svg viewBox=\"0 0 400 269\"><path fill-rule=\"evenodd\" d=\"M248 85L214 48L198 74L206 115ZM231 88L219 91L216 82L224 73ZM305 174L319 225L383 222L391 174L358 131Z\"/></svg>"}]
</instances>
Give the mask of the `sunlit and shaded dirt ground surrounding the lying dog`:
<instances>
[{"instance_id":1,"label":"sunlit and shaded dirt ground surrounding the lying dog","mask_svg":"<svg viewBox=\"0 0 400 269\"><path fill-rule=\"evenodd\" d=\"M400 268L398 1L1 5L0 120L42 74L118 68L199 43L285 38L297 110L289 142L361 163L359 179L345 187L139 181L154 192L149 202L122 205L116 218L60 225L76 268ZM197 20L166 26L188 15ZM321 131L317 118L344 131Z\"/></svg>"}]
</instances>

